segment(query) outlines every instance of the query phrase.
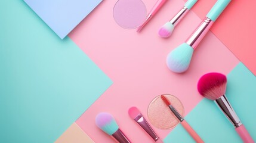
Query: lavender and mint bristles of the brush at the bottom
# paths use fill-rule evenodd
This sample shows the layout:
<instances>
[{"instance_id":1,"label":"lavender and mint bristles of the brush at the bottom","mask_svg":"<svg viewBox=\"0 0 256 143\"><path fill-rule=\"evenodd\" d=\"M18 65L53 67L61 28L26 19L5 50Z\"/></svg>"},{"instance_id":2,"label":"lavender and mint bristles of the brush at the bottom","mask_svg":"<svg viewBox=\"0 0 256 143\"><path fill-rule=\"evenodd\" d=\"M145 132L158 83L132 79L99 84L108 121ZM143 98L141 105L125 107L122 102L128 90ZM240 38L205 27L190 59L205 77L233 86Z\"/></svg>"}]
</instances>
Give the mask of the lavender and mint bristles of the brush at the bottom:
<instances>
[{"instance_id":1,"label":"lavender and mint bristles of the brush at the bottom","mask_svg":"<svg viewBox=\"0 0 256 143\"><path fill-rule=\"evenodd\" d=\"M116 132L116 130L119 129L118 124L116 123L113 116L109 113L100 113L96 116L95 123L108 135L113 135L113 133Z\"/></svg>"}]
</instances>

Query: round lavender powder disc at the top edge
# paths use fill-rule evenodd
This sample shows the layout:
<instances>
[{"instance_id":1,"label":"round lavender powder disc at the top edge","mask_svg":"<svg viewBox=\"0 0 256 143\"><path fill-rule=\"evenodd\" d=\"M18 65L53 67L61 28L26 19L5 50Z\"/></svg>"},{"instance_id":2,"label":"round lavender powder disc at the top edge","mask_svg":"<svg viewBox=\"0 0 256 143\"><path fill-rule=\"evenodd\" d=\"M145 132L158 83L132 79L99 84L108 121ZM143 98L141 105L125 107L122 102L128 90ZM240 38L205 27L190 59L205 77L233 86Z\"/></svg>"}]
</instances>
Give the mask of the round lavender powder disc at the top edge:
<instances>
[{"instance_id":1,"label":"round lavender powder disc at the top edge","mask_svg":"<svg viewBox=\"0 0 256 143\"><path fill-rule=\"evenodd\" d=\"M113 9L116 23L124 29L135 29L146 18L147 9L141 0L119 0Z\"/></svg>"}]
</instances>

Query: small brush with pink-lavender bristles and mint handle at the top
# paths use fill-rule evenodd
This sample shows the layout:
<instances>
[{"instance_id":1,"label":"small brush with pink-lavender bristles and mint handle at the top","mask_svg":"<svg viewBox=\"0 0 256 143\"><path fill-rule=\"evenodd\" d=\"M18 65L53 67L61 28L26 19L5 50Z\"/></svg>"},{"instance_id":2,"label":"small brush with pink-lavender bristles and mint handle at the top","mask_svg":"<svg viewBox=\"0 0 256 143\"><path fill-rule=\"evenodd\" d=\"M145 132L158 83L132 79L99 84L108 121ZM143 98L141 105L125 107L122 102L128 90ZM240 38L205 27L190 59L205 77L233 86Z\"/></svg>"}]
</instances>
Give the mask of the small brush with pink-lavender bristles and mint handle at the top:
<instances>
[{"instance_id":1,"label":"small brush with pink-lavender bristles and mint handle at the top","mask_svg":"<svg viewBox=\"0 0 256 143\"><path fill-rule=\"evenodd\" d=\"M164 26L161 27L158 31L158 35L162 38L168 38L171 36L174 27L182 20L182 18L189 12L189 10L196 4L198 0L189 0L184 4L184 7Z\"/></svg>"}]
</instances>

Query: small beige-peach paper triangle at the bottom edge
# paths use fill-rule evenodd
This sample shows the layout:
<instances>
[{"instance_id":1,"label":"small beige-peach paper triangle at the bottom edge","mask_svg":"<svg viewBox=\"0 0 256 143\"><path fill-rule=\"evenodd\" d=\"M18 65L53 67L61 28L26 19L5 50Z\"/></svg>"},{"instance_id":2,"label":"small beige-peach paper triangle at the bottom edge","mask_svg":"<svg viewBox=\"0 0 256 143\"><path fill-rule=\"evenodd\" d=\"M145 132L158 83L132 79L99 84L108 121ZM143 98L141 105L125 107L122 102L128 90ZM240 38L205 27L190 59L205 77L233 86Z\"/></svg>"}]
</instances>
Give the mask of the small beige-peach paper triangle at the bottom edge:
<instances>
[{"instance_id":1,"label":"small beige-peach paper triangle at the bottom edge","mask_svg":"<svg viewBox=\"0 0 256 143\"><path fill-rule=\"evenodd\" d=\"M55 143L94 143L94 141L76 123L73 123Z\"/></svg>"}]
</instances>

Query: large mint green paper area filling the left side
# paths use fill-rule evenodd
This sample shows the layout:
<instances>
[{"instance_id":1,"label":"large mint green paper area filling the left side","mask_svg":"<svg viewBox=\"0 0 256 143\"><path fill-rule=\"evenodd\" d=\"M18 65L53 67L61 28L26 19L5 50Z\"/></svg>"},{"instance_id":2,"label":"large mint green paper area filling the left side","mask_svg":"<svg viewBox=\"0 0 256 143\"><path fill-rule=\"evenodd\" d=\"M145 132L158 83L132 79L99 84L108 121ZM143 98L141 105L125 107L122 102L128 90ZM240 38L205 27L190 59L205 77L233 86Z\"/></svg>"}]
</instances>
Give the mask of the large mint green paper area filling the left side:
<instances>
[{"instance_id":1,"label":"large mint green paper area filling the left side","mask_svg":"<svg viewBox=\"0 0 256 143\"><path fill-rule=\"evenodd\" d=\"M112 81L23 1L0 19L0 142L54 142Z\"/></svg>"}]
</instances>

